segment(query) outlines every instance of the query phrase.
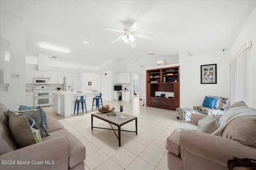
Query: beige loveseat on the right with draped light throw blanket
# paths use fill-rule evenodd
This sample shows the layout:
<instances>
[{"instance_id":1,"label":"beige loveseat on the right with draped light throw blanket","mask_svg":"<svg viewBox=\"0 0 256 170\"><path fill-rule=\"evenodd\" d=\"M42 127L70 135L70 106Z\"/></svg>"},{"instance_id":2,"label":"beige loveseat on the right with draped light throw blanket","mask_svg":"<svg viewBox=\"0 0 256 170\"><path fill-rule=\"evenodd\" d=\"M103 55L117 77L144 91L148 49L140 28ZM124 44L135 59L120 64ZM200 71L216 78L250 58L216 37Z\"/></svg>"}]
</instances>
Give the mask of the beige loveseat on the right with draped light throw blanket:
<instances>
[{"instance_id":1,"label":"beige loveseat on the right with draped light throw blanket","mask_svg":"<svg viewBox=\"0 0 256 170\"><path fill-rule=\"evenodd\" d=\"M191 124L197 126L198 121L207 116L192 114ZM218 121L220 117L216 116L216 119ZM226 170L228 160L233 157L256 159L255 129L256 116L248 115L228 123L221 136L186 129L174 131L166 140L168 168Z\"/></svg>"}]
</instances>

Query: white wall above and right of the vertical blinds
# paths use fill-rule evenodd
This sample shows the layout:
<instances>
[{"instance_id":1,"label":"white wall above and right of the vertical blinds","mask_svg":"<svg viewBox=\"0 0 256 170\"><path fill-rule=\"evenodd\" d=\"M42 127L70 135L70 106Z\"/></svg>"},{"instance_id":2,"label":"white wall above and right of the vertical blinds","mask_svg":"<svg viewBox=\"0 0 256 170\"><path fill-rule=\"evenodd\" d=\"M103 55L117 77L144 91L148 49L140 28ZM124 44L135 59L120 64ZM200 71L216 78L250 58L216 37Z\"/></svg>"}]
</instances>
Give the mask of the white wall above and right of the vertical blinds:
<instances>
[{"instance_id":1,"label":"white wall above and right of the vertical blinds","mask_svg":"<svg viewBox=\"0 0 256 170\"><path fill-rule=\"evenodd\" d=\"M247 42L252 41L252 47L246 50L247 57L247 102L250 107L256 108L256 8L252 11L242 27L236 40L230 48L229 60ZM236 101L238 102L238 101Z\"/></svg>"}]
</instances>

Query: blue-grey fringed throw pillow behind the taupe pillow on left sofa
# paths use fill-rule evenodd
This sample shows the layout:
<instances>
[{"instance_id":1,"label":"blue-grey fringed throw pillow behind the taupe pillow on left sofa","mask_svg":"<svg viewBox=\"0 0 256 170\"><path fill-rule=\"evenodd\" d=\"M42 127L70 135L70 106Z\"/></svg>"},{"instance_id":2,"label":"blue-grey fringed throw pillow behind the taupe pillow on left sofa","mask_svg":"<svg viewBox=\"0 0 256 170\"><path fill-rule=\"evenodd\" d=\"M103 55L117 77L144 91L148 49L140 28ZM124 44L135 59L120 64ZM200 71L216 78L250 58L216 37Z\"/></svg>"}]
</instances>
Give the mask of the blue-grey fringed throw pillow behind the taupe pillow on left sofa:
<instances>
[{"instance_id":1,"label":"blue-grey fringed throw pillow behind the taupe pillow on left sofa","mask_svg":"<svg viewBox=\"0 0 256 170\"><path fill-rule=\"evenodd\" d=\"M38 125L41 137L45 137L45 136L48 136L49 134L44 124L44 116L42 111L43 109L41 108L41 109L31 109L31 110L20 110L15 112L32 117L32 119L34 119ZM12 111L11 109L8 110L9 119L10 119L10 116L15 112Z\"/></svg>"}]
</instances>

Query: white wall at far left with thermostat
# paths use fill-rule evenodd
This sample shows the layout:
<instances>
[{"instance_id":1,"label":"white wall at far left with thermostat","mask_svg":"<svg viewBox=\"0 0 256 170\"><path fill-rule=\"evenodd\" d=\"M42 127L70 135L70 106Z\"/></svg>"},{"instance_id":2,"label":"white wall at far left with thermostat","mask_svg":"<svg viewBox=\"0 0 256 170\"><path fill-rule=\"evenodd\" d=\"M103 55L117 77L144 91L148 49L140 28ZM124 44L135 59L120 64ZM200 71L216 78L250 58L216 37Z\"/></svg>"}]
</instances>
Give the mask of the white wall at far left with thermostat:
<instances>
[{"instance_id":1,"label":"white wall at far left with thermostat","mask_svg":"<svg viewBox=\"0 0 256 170\"><path fill-rule=\"evenodd\" d=\"M26 20L1 11L0 36L10 42L10 75L20 75L20 78L10 76L10 91L1 91L0 101L16 110L25 104Z\"/></svg>"}]
</instances>

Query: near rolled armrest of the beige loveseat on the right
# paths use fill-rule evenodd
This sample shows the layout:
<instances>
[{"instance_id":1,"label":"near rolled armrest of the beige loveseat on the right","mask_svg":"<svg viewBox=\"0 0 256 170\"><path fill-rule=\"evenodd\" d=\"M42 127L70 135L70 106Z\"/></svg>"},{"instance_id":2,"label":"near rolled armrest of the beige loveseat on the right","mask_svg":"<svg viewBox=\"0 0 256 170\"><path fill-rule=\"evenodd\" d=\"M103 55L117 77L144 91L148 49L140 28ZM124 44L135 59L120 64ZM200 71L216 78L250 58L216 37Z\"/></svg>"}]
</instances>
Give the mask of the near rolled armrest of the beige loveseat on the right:
<instances>
[{"instance_id":1,"label":"near rolled armrest of the beige loveseat on the right","mask_svg":"<svg viewBox=\"0 0 256 170\"><path fill-rule=\"evenodd\" d=\"M181 154L186 150L202 158L226 166L229 159L256 158L256 147L238 143L232 139L182 130L180 134Z\"/></svg>"}]
</instances>

